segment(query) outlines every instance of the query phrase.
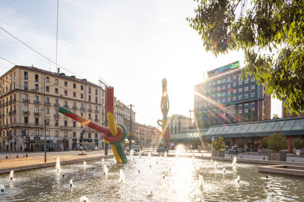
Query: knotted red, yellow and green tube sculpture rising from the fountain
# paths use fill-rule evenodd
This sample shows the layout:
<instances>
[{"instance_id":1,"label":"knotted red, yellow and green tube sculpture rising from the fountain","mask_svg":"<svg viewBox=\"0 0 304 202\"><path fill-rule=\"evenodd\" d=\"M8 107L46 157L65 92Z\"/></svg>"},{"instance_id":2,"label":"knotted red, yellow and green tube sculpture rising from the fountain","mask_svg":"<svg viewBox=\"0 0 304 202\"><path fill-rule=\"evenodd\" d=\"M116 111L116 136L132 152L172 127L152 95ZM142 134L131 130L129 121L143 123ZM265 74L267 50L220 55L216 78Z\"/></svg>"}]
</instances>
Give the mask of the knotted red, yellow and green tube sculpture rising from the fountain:
<instances>
[{"instance_id":1,"label":"knotted red, yellow and green tube sculpture rising from the fountain","mask_svg":"<svg viewBox=\"0 0 304 202\"><path fill-rule=\"evenodd\" d=\"M121 143L127 137L127 130L122 124L115 124L114 116L114 88L107 87L107 119L109 127L105 128L97 123L94 123L82 116L73 113L72 111L59 107L59 112L63 113L65 116L68 116L83 125L86 125L89 128L92 128L96 131L102 132L103 140L111 145L112 151L114 153L117 163L126 163L128 162L126 153L121 145Z\"/></svg>"}]
</instances>

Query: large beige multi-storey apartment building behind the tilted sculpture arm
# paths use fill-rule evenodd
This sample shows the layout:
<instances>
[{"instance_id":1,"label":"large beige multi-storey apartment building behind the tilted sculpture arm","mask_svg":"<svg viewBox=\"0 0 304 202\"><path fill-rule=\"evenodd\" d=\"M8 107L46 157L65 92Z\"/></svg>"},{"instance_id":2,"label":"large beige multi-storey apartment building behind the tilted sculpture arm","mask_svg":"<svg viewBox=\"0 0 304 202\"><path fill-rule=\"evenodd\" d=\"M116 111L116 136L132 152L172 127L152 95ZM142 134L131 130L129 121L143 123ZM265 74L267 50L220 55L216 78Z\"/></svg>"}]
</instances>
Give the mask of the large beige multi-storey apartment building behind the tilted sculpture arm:
<instances>
[{"instance_id":1,"label":"large beige multi-storey apartment building behind the tilted sculpture arm","mask_svg":"<svg viewBox=\"0 0 304 202\"><path fill-rule=\"evenodd\" d=\"M43 151L46 120L48 151L75 150L85 129L84 146L103 149L100 132L60 114L60 106L104 125L105 91L86 79L33 66L14 66L0 77L0 146L8 151ZM22 138L24 134L24 138Z\"/></svg>"}]
</instances>

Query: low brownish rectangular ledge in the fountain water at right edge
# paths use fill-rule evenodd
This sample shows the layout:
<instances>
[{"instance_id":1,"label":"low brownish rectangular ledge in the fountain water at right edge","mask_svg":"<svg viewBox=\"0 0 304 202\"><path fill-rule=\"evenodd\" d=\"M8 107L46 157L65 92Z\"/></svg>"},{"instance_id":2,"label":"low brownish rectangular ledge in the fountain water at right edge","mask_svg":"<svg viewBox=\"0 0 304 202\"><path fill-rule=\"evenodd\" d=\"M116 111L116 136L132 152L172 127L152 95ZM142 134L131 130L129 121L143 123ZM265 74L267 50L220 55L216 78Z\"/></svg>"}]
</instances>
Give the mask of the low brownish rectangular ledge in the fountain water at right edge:
<instances>
[{"instance_id":1,"label":"low brownish rectangular ledge in the fountain water at right edge","mask_svg":"<svg viewBox=\"0 0 304 202\"><path fill-rule=\"evenodd\" d=\"M304 166L268 165L268 166L259 166L258 171L304 177Z\"/></svg>"}]
</instances>

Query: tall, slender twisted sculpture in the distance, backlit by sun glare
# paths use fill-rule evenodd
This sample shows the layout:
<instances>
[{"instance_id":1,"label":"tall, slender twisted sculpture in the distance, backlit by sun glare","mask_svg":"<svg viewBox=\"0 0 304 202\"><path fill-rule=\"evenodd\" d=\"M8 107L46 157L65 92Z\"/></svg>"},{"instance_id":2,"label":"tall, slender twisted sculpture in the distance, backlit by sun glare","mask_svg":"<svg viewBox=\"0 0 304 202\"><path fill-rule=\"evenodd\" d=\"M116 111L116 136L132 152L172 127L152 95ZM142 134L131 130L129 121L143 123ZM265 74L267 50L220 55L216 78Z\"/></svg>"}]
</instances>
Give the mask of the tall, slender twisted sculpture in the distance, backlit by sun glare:
<instances>
[{"instance_id":1,"label":"tall, slender twisted sculpture in the distance, backlit by sun glare","mask_svg":"<svg viewBox=\"0 0 304 202\"><path fill-rule=\"evenodd\" d=\"M167 92L167 79L162 79L162 96L160 101L160 110L163 115L162 120L157 120L157 124L162 128L162 131L159 131L156 128L152 128L151 132L153 135L157 137L164 137L164 146L167 146L170 141L170 131L168 129L168 120L167 115L169 111L169 98ZM159 135L157 135L154 131L157 131Z\"/></svg>"}]
</instances>

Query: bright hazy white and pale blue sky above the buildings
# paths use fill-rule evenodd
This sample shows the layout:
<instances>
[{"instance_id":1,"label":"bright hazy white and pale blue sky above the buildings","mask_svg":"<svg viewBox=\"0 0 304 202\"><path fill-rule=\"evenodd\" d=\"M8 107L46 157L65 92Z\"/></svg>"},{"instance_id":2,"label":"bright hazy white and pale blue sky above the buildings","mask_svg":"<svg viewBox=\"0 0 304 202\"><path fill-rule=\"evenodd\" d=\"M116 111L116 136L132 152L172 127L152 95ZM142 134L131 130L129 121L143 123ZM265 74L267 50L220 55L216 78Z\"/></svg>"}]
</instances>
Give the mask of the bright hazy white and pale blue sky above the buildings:
<instances>
[{"instance_id":1,"label":"bright hazy white and pale blue sky above the buildings","mask_svg":"<svg viewBox=\"0 0 304 202\"><path fill-rule=\"evenodd\" d=\"M67 75L98 84L104 79L115 97L133 104L136 122L156 126L161 80L167 79L168 116L190 116L194 85L203 73L236 60L242 52L215 57L186 17L193 0L59 0L57 63ZM1 0L0 27L56 60L57 0ZM0 30L0 57L17 65L56 71L56 65ZM13 64L0 59L0 75ZM272 99L271 116L281 117L281 101ZM193 116L193 114L192 114Z\"/></svg>"}]
</instances>

